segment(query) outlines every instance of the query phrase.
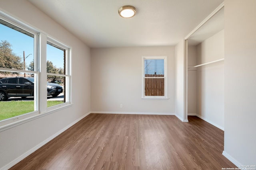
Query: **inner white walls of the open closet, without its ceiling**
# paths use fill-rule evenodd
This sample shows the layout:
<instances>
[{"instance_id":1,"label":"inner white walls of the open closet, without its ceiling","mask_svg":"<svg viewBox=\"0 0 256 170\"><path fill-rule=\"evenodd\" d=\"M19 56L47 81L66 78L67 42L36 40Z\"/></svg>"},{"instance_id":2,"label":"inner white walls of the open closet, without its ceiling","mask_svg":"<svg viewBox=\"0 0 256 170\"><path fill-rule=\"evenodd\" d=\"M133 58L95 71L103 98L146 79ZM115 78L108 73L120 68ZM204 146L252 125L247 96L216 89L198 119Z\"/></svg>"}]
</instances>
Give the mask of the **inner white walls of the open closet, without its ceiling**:
<instances>
[{"instance_id":1,"label":"inner white walls of the open closet, without its ceiling","mask_svg":"<svg viewBox=\"0 0 256 170\"><path fill-rule=\"evenodd\" d=\"M224 60L220 59L224 59L224 29L188 47L188 115L224 130ZM217 62L205 64L212 61Z\"/></svg>"}]
</instances>

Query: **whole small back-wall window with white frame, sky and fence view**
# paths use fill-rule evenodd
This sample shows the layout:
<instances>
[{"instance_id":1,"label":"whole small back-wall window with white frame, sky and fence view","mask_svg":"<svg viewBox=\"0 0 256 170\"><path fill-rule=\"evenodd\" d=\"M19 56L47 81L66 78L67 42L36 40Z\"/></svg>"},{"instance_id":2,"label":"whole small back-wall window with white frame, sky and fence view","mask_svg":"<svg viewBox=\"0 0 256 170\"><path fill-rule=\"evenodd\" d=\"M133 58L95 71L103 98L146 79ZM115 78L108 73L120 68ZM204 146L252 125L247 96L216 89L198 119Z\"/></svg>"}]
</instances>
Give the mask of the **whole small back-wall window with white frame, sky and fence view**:
<instances>
[{"instance_id":1,"label":"whole small back-wall window with white frame, sky and fence view","mask_svg":"<svg viewBox=\"0 0 256 170\"><path fill-rule=\"evenodd\" d=\"M167 99L167 56L142 57L142 98Z\"/></svg>"}]
</instances>

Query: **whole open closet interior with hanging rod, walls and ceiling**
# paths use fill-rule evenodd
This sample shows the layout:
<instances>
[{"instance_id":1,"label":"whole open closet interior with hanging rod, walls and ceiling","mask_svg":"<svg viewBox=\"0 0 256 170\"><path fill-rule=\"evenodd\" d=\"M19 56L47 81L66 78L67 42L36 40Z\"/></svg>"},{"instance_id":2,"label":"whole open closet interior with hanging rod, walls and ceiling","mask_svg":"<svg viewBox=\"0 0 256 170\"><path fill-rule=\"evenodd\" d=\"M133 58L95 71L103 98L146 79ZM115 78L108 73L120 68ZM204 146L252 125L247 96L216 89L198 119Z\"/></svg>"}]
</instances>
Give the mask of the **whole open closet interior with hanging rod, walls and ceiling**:
<instances>
[{"instance_id":1,"label":"whole open closet interior with hanging rod, walls and ceiling","mask_svg":"<svg viewBox=\"0 0 256 170\"><path fill-rule=\"evenodd\" d=\"M187 42L187 114L224 130L224 6Z\"/></svg>"}]
</instances>

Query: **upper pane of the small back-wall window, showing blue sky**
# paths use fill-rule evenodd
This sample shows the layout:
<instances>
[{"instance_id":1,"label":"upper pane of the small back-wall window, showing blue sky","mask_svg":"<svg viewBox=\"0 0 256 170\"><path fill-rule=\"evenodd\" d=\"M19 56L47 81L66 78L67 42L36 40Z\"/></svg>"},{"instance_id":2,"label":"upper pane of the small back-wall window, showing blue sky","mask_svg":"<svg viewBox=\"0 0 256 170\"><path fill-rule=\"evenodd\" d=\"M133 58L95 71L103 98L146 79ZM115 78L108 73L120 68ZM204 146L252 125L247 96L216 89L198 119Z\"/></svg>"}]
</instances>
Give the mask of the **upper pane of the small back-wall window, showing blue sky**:
<instances>
[{"instance_id":1,"label":"upper pane of the small back-wall window, showing blue sky","mask_svg":"<svg viewBox=\"0 0 256 170\"><path fill-rule=\"evenodd\" d=\"M164 75L164 59L146 59L144 60L144 73Z\"/></svg>"}]
</instances>

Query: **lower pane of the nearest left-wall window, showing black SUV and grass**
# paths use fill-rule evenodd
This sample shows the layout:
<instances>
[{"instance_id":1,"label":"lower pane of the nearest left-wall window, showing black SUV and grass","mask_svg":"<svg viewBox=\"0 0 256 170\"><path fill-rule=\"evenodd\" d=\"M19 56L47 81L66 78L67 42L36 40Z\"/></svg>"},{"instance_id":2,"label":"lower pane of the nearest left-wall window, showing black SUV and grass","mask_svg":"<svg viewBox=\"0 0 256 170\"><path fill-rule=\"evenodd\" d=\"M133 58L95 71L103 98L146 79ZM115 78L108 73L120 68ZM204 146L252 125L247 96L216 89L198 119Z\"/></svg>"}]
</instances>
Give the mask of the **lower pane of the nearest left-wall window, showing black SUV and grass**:
<instances>
[{"instance_id":1,"label":"lower pane of the nearest left-wall window, showing black SUV and grass","mask_svg":"<svg viewBox=\"0 0 256 170\"><path fill-rule=\"evenodd\" d=\"M16 76L12 72L7 75L0 78L0 120L35 111L34 77L11 77Z\"/></svg>"}]
</instances>

